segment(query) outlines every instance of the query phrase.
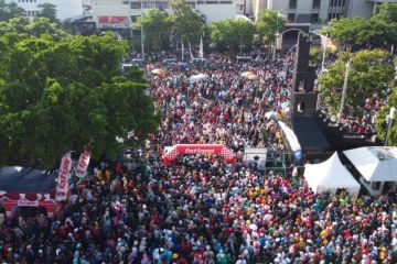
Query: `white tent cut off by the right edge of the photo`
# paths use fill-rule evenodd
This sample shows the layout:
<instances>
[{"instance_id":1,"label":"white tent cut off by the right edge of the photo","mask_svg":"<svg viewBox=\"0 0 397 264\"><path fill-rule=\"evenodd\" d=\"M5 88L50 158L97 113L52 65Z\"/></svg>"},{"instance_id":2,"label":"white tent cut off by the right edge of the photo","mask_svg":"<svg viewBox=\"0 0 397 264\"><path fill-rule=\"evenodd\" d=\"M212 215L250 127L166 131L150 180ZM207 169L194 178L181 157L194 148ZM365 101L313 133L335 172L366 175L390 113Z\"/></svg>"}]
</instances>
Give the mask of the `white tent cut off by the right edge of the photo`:
<instances>
[{"instance_id":1,"label":"white tent cut off by the right edge of the photo","mask_svg":"<svg viewBox=\"0 0 397 264\"><path fill-rule=\"evenodd\" d=\"M396 146L363 146L343 153L367 182L397 182Z\"/></svg>"}]
</instances>

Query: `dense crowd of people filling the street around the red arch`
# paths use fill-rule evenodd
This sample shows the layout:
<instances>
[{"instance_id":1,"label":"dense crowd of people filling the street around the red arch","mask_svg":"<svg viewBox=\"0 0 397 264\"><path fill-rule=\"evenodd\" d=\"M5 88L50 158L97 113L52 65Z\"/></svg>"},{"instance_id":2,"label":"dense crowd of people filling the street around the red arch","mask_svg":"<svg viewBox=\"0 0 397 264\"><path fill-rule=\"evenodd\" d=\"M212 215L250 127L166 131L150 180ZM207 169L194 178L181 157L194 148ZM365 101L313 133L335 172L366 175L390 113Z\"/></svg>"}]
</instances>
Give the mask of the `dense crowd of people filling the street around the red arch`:
<instances>
[{"instance_id":1,"label":"dense crowd of people filling the street around the red arch","mask_svg":"<svg viewBox=\"0 0 397 264\"><path fill-rule=\"evenodd\" d=\"M397 263L395 191L314 194L293 164L281 175L243 161L247 146L283 148L277 119L289 107L289 59L147 65L163 117L152 145L222 143L236 163L200 154L104 162L72 185L54 219L4 220L0 262Z\"/></svg>"}]
</instances>

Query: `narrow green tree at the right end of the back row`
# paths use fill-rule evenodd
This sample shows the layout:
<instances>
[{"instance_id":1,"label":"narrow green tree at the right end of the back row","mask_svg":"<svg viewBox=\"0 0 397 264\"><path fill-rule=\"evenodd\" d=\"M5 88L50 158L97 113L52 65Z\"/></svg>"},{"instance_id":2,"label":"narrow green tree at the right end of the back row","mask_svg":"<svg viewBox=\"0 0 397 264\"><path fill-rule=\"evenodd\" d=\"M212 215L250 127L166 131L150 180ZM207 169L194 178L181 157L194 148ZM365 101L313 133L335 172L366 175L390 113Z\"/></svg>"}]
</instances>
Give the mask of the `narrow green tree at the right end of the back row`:
<instances>
[{"instance_id":1,"label":"narrow green tree at the right end of the back row","mask_svg":"<svg viewBox=\"0 0 397 264\"><path fill-rule=\"evenodd\" d=\"M281 16L278 11L266 10L259 13L256 28L260 40L270 47L276 41L276 34L282 31L287 22L287 19Z\"/></svg>"}]
</instances>

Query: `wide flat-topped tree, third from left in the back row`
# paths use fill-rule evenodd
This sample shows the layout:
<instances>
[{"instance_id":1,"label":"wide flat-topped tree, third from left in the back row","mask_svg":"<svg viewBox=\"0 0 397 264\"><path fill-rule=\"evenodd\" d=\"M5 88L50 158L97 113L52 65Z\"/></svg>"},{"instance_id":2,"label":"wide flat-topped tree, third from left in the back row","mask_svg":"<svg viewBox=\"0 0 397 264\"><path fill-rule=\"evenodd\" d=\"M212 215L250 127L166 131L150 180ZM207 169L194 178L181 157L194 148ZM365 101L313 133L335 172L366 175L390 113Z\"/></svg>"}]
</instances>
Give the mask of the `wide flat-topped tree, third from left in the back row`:
<instances>
[{"instance_id":1,"label":"wide flat-topped tree, third from left in the back row","mask_svg":"<svg viewBox=\"0 0 397 264\"><path fill-rule=\"evenodd\" d=\"M212 42L218 46L228 45L230 55L238 45L251 45L256 32L255 25L243 19L214 21L210 29Z\"/></svg>"}]
</instances>

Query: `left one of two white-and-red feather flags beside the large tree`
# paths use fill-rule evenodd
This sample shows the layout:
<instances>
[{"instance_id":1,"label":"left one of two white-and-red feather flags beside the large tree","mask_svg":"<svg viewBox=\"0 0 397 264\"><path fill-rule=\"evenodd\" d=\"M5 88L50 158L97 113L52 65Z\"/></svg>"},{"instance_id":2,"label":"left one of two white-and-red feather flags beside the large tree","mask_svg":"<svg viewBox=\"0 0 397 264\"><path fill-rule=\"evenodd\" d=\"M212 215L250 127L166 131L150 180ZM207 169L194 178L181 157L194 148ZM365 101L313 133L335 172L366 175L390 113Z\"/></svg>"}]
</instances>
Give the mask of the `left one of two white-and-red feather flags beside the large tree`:
<instances>
[{"instance_id":1,"label":"left one of two white-and-red feather flags beside the large tree","mask_svg":"<svg viewBox=\"0 0 397 264\"><path fill-rule=\"evenodd\" d=\"M71 169L72 169L72 156L71 153L68 152L62 157L61 161L58 180L56 184L56 193L55 193L55 200L57 201L67 199Z\"/></svg>"}]
</instances>

